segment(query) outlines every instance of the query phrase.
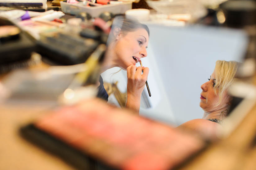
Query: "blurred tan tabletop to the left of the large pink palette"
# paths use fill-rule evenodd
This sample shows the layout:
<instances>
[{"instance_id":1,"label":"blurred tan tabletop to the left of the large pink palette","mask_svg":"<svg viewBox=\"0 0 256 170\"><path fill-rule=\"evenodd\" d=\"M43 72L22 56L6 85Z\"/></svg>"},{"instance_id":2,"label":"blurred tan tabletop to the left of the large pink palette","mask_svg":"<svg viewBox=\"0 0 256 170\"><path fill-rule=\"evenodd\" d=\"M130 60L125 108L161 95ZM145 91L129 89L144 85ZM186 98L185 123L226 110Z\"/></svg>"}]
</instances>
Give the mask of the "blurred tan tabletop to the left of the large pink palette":
<instances>
[{"instance_id":1,"label":"blurred tan tabletop to the left of the large pink palette","mask_svg":"<svg viewBox=\"0 0 256 170\"><path fill-rule=\"evenodd\" d=\"M0 169L20 170L71 170L74 169L60 158L47 153L19 136L21 125L42 115L54 103L26 105L9 103L0 105Z\"/></svg>"}]
</instances>

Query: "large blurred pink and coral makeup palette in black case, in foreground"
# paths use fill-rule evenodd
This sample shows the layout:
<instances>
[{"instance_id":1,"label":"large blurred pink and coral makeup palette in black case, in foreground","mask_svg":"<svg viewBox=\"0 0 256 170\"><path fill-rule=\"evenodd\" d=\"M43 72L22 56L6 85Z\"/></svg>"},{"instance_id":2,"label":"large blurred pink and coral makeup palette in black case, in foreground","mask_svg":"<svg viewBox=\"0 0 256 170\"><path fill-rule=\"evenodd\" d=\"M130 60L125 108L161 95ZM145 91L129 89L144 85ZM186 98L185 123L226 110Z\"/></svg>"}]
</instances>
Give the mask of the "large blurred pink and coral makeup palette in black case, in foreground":
<instances>
[{"instance_id":1,"label":"large blurred pink and coral makeup palette in black case, in foreground","mask_svg":"<svg viewBox=\"0 0 256 170\"><path fill-rule=\"evenodd\" d=\"M88 99L49 111L22 127L26 139L79 169L172 169L206 146L186 133L132 111Z\"/></svg>"}]
</instances>

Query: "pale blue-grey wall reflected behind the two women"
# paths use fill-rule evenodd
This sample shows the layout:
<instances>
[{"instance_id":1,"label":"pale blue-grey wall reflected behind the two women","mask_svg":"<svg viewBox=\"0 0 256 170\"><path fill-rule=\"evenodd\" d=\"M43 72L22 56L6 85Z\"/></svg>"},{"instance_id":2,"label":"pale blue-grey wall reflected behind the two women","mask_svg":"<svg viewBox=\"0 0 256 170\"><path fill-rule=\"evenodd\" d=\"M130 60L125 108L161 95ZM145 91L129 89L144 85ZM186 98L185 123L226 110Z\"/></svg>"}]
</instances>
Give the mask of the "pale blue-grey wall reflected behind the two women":
<instances>
[{"instance_id":1,"label":"pale blue-grey wall reflected behind the two women","mask_svg":"<svg viewBox=\"0 0 256 170\"><path fill-rule=\"evenodd\" d=\"M245 34L203 26L148 26L148 57L141 61L150 68L151 108L141 108L140 114L176 125L201 118L200 85L208 81L216 60L242 61L247 43ZM112 79L125 81L122 83L125 88L125 76L123 72ZM104 74L103 79L106 78Z\"/></svg>"}]
</instances>

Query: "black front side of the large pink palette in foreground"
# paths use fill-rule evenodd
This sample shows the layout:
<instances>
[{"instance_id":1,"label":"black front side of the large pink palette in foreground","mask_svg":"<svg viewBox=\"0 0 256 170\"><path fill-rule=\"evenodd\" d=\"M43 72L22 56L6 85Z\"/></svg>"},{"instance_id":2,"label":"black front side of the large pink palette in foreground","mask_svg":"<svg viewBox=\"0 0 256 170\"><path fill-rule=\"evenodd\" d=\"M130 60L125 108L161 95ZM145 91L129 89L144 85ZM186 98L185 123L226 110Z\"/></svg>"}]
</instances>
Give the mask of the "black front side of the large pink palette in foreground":
<instances>
[{"instance_id":1,"label":"black front side of the large pink palette in foreground","mask_svg":"<svg viewBox=\"0 0 256 170\"><path fill-rule=\"evenodd\" d=\"M44 150L54 154L76 169L83 170L117 170L86 155L80 150L69 146L65 142L51 136L50 134L38 129L34 124L29 124L20 129L20 135Z\"/></svg>"}]
</instances>

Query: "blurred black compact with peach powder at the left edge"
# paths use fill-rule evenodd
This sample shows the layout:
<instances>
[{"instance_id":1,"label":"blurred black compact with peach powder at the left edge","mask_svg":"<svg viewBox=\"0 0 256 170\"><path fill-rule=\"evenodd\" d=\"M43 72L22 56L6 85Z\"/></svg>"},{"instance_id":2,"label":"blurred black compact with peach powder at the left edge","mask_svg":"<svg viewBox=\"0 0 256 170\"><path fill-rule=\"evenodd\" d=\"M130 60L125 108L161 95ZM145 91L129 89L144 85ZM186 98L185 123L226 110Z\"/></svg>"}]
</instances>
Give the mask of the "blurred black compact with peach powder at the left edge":
<instances>
[{"instance_id":1,"label":"blurred black compact with peach powder at the left edge","mask_svg":"<svg viewBox=\"0 0 256 170\"><path fill-rule=\"evenodd\" d=\"M41 56L34 51L34 39L10 20L0 17L0 73L40 63Z\"/></svg>"}]
</instances>

